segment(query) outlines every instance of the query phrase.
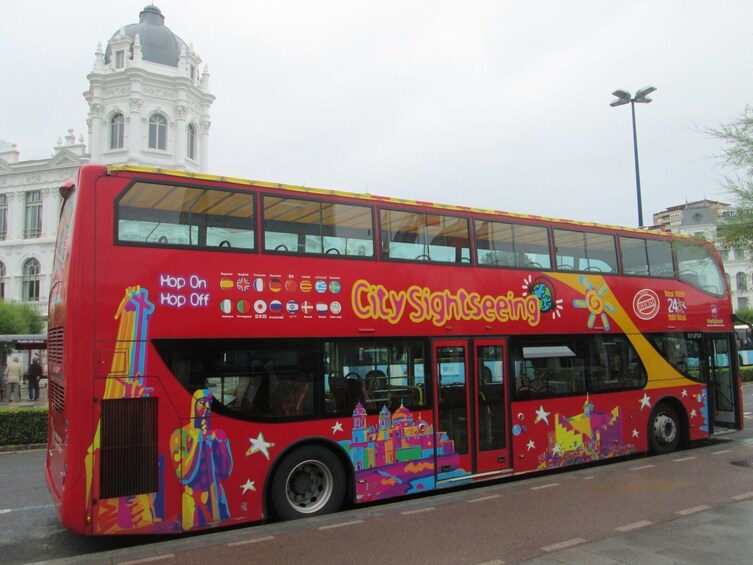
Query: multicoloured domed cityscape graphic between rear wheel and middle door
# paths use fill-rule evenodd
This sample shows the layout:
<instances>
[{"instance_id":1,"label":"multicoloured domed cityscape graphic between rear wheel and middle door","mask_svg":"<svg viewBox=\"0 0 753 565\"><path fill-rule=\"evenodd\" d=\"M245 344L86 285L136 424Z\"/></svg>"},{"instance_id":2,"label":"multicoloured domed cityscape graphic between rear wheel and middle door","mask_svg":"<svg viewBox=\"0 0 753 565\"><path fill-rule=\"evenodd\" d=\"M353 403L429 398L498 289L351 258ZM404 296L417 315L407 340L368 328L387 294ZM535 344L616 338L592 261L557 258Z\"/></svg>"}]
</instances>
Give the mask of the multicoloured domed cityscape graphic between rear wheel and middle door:
<instances>
[{"instance_id":1,"label":"multicoloured domed cityscape graphic between rear wheel and middle door","mask_svg":"<svg viewBox=\"0 0 753 565\"><path fill-rule=\"evenodd\" d=\"M366 410L358 403L353 411L350 440L340 445L349 453L356 470L356 497L359 502L400 496L435 486L436 478L462 476L455 446L444 432L402 404L392 414L387 406L379 413L377 426L367 426Z\"/></svg>"}]
</instances>

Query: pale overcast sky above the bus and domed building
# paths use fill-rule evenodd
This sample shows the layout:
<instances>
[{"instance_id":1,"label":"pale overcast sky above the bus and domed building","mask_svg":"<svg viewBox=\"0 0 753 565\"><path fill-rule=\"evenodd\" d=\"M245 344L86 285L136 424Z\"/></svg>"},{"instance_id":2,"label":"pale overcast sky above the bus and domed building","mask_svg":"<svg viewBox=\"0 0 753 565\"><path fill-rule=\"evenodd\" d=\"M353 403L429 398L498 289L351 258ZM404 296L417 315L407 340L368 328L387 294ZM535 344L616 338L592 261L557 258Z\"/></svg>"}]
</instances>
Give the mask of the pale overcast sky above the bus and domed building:
<instances>
[{"instance_id":1,"label":"pale overcast sky above the bus and domed building","mask_svg":"<svg viewBox=\"0 0 753 565\"><path fill-rule=\"evenodd\" d=\"M0 139L86 138L97 43L147 0L4 2ZM210 73L209 172L609 224L729 200L704 133L753 103L753 2L155 0ZM106 6L106 8L105 8ZM85 139L88 143L88 138Z\"/></svg>"}]
</instances>

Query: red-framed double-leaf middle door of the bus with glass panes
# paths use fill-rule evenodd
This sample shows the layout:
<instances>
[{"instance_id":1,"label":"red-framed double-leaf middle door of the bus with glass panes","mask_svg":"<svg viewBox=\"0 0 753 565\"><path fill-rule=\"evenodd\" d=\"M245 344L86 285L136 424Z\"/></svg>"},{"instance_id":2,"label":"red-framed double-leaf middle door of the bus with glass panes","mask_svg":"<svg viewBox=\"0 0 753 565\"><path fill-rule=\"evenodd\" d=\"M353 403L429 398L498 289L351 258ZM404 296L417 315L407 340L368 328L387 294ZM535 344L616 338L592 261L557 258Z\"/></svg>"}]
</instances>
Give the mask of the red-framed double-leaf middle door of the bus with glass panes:
<instances>
[{"instance_id":1,"label":"red-framed double-leaf middle door of the bus with glass panes","mask_svg":"<svg viewBox=\"0 0 753 565\"><path fill-rule=\"evenodd\" d=\"M437 391L435 430L446 434L470 473L510 469L507 437L505 342L452 340L434 343L434 385ZM441 446L437 446L441 449ZM440 452L437 473L442 480Z\"/></svg>"}]
</instances>

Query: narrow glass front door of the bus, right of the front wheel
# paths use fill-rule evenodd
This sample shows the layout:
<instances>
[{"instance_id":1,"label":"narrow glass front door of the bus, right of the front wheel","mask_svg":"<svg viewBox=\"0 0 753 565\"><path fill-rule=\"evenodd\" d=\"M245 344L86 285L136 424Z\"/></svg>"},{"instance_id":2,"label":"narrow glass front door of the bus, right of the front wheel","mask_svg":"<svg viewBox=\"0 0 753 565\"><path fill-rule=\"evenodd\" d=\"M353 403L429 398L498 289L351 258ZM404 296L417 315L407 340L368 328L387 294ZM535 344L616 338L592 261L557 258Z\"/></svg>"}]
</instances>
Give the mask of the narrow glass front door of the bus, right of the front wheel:
<instances>
[{"instance_id":1,"label":"narrow glass front door of the bus, right of the front wheel","mask_svg":"<svg viewBox=\"0 0 753 565\"><path fill-rule=\"evenodd\" d=\"M737 379L734 378L733 349L728 336L709 338L709 405L713 409L714 426L740 427L740 401Z\"/></svg>"}]
</instances>

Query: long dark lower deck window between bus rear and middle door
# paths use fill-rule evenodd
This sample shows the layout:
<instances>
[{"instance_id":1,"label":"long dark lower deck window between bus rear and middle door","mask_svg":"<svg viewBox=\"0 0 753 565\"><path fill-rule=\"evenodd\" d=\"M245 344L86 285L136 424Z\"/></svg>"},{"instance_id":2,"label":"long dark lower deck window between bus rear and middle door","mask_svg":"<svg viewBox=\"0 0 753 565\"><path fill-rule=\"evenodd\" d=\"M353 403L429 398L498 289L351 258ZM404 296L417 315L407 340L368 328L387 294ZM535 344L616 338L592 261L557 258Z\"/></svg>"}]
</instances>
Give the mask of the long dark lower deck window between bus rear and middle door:
<instances>
[{"instance_id":1,"label":"long dark lower deck window between bus rear and middle door","mask_svg":"<svg viewBox=\"0 0 753 565\"><path fill-rule=\"evenodd\" d=\"M155 340L191 393L208 389L212 409L248 420L350 416L427 407L423 339Z\"/></svg>"}]
</instances>

